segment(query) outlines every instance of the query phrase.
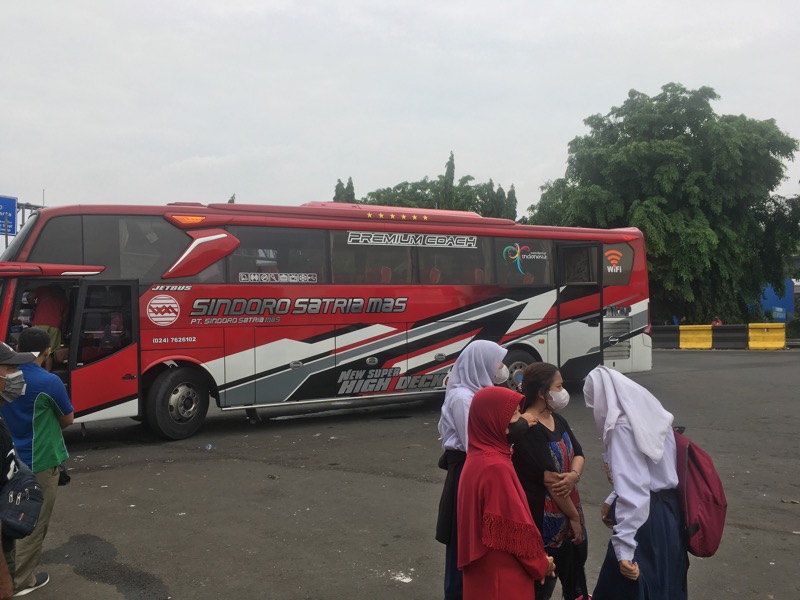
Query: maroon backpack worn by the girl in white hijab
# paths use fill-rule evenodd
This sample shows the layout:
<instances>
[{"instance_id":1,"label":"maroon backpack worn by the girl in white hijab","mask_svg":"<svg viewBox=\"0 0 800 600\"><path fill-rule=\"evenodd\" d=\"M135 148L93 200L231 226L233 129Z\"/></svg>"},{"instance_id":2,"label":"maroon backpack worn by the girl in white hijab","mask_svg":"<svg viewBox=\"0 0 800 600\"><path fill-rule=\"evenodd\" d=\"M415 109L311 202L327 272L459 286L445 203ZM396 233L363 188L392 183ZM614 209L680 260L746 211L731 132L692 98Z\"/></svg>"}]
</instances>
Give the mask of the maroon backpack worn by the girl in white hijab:
<instances>
[{"instance_id":1,"label":"maroon backpack worn by the girl in white hijab","mask_svg":"<svg viewBox=\"0 0 800 600\"><path fill-rule=\"evenodd\" d=\"M678 495L689 552L713 556L722 541L728 501L714 461L700 446L675 432Z\"/></svg>"}]
</instances>

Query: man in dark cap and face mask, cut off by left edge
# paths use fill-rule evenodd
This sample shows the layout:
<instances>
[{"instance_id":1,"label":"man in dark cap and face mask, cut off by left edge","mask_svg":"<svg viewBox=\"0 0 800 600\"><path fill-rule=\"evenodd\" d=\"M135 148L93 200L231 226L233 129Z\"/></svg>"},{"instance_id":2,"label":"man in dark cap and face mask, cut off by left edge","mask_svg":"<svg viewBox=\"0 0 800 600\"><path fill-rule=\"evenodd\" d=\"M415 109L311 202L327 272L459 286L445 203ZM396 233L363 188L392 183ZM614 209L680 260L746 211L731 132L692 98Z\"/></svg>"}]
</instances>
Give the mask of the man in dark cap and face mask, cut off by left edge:
<instances>
[{"instance_id":1,"label":"man in dark cap and face mask, cut off by left edge","mask_svg":"<svg viewBox=\"0 0 800 600\"><path fill-rule=\"evenodd\" d=\"M25 376L19 366L33 362L34 358L31 353L14 352L8 344L0 342L0 408L6 402L16 400L25 391ZM0 418L0 487L16 473L15 455L11 433ZM0 560L0 600L10 600L14 594L14 540L2 535L2 525L0 538L4 557L4 560Z\"/></svg>"}]
</instances>

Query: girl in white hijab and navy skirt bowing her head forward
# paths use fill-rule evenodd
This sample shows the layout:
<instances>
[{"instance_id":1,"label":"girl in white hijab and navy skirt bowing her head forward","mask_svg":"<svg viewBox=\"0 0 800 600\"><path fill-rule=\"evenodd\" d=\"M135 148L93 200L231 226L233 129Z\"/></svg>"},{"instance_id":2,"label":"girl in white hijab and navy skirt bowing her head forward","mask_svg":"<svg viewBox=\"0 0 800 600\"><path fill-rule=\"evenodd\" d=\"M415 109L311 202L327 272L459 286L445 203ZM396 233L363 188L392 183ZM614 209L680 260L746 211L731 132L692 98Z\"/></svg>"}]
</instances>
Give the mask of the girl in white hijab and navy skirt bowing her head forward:
<instances>
[{"instance_id":1,"label":"girl in white hijab and navy skirt bowing her head forward","mask_svg":"<svg viewBox=\"0 0 800 600\"><path fill-rule=\"evenodd\" d=\"M613 529L593 600L686 600L689 559L675 487L672 415L621 373L597 367L583 388L603 438Z\"/></svg>"}]
</instances>

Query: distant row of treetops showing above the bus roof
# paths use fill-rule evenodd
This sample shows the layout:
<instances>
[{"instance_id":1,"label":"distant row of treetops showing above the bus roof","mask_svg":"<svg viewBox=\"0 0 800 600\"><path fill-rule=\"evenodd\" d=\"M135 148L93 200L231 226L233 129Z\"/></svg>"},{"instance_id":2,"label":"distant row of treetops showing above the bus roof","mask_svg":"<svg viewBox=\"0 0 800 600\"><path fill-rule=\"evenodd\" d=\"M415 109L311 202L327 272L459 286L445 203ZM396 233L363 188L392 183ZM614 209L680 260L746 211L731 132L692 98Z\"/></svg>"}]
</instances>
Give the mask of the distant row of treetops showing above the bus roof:
<instances>
[{"instance_id":1,"label":"distant row of treetops showing above the bus roof","mask_svg":"<svg viewBox=\"0 0 800 600\"><path fill-rule=\"evenodd\" d=\"M495 187L491 179L486 183L474 183L474 177L465 175L456 183L455 172L455 157L451 152L445 163L444 174L436 180L424 177L420 181L404 181L394 187L369 192L360 202L379 206L473 211L484 217L516 219L517 194L513 185L506 194L502 187ZM334 202L357 202L354 194L352 200L338 200L340 186L341 197L348 193L339 180ZM348 190L352 190L352 179L348 180L347 186Z\"/></svg>"}]
</instances>

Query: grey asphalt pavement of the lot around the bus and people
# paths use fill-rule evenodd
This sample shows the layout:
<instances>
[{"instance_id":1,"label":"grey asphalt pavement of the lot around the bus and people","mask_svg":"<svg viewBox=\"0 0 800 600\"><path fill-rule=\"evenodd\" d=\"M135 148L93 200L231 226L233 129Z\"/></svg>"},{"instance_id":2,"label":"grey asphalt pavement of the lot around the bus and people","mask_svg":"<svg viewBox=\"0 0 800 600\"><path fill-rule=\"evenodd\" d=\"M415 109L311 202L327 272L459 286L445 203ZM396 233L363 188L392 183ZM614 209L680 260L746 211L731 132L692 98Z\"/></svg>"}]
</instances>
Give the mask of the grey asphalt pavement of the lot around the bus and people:
<instances>
[{"instance_id":1,"label":"grey asphalt pavement of the lot around the bus and people","mask_svg":"<svg viewBox=\"0 0 800 600\"><path fill-rule=\"evenodd\" d=\"M692 558L695 599L800 598L800 351L661 350L636 374L713 456L729 503L716 556ZM131 420L67 432L32 600L437 599L444 472L440 402L256 425L215 412L163 442ZM564 414L587 456L587 577L609 532L600 440L579 391Z\"/></svg>"}]
</instances>

